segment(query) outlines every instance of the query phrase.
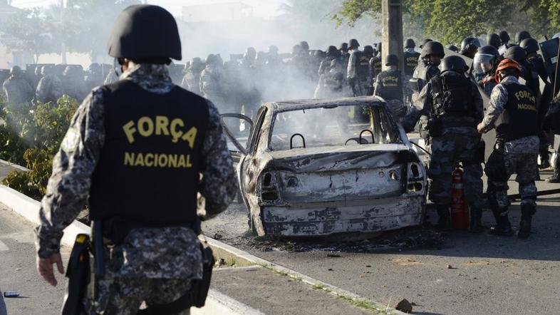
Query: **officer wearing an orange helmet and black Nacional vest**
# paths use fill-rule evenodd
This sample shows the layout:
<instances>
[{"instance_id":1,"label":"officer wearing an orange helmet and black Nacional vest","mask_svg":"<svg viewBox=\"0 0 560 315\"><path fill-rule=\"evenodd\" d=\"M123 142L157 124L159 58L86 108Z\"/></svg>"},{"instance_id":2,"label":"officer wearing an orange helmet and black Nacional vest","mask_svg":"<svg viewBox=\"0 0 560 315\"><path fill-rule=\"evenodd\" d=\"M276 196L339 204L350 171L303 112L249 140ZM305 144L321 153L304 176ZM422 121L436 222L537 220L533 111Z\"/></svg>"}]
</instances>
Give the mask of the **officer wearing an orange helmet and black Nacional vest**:
<instances>
[{"instance_id":1,"label":"officer wearing an orange helmet and black Nacional vest","mask_svg":"<svg viewBox=\"0 0 560 315\"><path fill-rule=\"evenodd\" d=\"M519 83L521 67L512 59L502 60L496 70L499 84L490 96L487 114L478 125L479 133L496 128L496 145L484 172L488 176L488 196L496 225L490 233L513 233L508 219L507 180L517 174L521 195L522 217L519 238L531 233L532 216L536 212L536 160L539 154L539 118L536 97Z\"/></svg>"}]
</instances>

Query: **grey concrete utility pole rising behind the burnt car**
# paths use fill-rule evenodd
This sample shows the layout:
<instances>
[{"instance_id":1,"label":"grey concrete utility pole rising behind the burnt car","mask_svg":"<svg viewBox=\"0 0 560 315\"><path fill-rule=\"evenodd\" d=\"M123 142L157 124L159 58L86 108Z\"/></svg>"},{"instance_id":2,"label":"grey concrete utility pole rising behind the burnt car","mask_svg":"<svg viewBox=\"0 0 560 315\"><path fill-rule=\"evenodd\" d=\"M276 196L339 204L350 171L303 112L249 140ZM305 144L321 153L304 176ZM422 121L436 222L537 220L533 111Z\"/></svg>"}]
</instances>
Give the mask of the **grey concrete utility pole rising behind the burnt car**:
<instances>
[{"instance_id":1,"label":"grey concrete utility pole rising behind the burnt car","mask_svg":"<svg viewBox=\"0 0 560 315\"><path fill-rule=\"evenodd\" d=\"M383 16L382 64L385 70L385 58L393 53L399 58L399 69L405 69L403 50L403 0L381 0ZM404 78L404 76L403 76Z\"/></svg>"}]
</instances>

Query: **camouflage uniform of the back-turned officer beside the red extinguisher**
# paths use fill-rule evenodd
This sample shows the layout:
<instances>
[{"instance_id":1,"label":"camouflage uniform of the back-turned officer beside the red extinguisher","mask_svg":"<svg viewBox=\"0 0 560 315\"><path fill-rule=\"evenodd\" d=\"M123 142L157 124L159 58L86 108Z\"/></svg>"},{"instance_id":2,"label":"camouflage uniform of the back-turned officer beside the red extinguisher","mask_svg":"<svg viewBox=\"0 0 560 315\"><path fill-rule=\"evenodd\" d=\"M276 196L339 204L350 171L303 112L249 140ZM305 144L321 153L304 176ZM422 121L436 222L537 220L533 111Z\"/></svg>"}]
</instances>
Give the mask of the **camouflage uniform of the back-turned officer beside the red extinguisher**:
<instances>
[{"instance_id":1,"label":"camouflage uniform of the back-turned officer beside the red extinguisher","mask_svg":"<svg viewBox=\"0 0 560 315\"><path fill-rule=\"evenodd\" d=\"M447 71L442 76L459 76L454 71ZM449 117L449 124L453 120L472 119L476 126L484 115L482 97L475 83L471 84L472 97L475 101L475 113L472 118ZM422 88L415 105L410 108L403 120L403 128L406 132L414 129L420 116L430 117L432 115L432 82ZM451 173L455 169L455 162L461 161L465 168L463 182L465 184L465 197L472 209L482 208L482 165L477 161L477 148L480 136L475 127L445 127L442 135L430 136L431 158L427 175L430 177L431 185L429 197L436 205L451 204Z\"/></svg>"}]
</instances>

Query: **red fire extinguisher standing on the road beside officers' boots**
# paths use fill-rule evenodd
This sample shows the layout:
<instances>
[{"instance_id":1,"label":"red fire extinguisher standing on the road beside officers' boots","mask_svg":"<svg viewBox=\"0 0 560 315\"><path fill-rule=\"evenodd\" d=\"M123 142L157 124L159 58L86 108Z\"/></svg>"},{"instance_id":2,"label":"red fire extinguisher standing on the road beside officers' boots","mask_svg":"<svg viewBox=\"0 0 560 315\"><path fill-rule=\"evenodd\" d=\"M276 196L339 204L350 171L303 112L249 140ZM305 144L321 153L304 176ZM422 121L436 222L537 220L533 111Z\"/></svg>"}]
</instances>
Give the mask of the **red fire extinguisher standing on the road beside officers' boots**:
<instances>
[{"instance_id":1,"label":"red fire extinguisher standing on the road beside officers' boots","mask_svg":"<svg viewBox=\"0 0 560 315\"><path fill-rule=\"evenodd\" d=\"M463 171L459 163L455 163L455 170L452 176L451 191L451 222L453 229L469 228L469 206L465 200L463 191Z\"/></svg>"}]
</instances>

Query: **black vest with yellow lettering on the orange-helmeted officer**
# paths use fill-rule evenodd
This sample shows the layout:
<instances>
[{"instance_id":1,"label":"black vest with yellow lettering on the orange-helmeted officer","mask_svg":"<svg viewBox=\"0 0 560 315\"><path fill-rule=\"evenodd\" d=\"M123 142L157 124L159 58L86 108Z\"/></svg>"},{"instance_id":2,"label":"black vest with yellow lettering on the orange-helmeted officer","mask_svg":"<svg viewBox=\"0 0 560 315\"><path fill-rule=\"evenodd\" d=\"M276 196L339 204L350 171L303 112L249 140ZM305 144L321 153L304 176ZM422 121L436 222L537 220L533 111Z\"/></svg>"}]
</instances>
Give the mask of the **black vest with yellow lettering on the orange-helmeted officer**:
<instances>
[{"instance_id":1,"label":"black vest with yellow lettering on the orange-helmeted officer","mask_svg":"<svg viewBox=\"0 0 560 315\"><path fill-rule=\"evenodd\" d=\"M531 89L511 81L502 86L508 97L504 112L496 120L496 138L512 141L538 135L539 116Z\"/></svg>"}]
</instances>

